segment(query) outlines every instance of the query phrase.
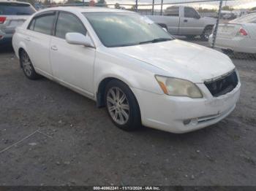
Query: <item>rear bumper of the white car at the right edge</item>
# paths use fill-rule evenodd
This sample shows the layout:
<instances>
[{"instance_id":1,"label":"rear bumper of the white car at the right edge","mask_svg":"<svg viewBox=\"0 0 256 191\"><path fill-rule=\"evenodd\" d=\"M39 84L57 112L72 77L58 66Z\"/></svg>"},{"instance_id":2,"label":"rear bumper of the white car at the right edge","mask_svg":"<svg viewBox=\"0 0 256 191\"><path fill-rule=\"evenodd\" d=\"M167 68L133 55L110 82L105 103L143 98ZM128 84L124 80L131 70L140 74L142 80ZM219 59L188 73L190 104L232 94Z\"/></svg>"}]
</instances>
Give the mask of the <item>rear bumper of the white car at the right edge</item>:
<instances>
[{"instance_id":1,"label":"rear bumper of the white car at the right edge","mask_svg":"<svg viewBox=\"0 0 256 191\"><path fill-rule=\"evenodd\" d=\"M209 37L209 43L212 44L213 36ZM234 52L256 53L256 39L249 37L236 36L233 38L217 37L215 47L224 50L233 50Z\"/></svg>"}]
</instances>

